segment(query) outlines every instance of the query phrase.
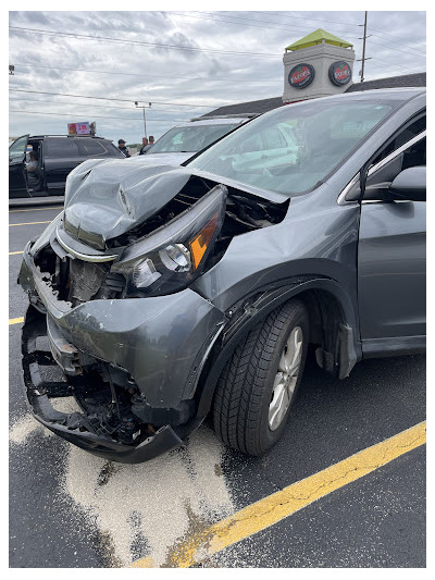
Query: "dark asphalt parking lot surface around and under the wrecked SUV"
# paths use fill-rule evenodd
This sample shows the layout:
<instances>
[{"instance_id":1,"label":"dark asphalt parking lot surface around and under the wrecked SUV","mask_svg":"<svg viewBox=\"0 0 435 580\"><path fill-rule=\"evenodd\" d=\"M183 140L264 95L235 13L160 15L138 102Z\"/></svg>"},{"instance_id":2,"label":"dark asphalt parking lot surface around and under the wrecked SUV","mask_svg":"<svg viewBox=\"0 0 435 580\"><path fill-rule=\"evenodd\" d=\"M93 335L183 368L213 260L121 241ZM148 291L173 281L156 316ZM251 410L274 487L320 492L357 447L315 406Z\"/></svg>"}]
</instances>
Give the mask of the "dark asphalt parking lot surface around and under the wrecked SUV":
<instances>
[{"instance_id":1,"label":"dark asphalt parking lot surface around and under the wrecked SUV","mask_svg":"<svg viewBox=\"0 0 435 580\"><path fill-rule=\"evenodd\" d=\"M424 441L411 444L411 431L390 459L384 447L425 420L424 356L362 361L345 381L309 357L286 433L262 458L224 448L204 425L183 448L119 465L38 425L21 386L27 297L16 275L26 242L60 210L9 213L10 567L425 567ZM366 474L270 519L264 502L315 478L321 489L331 466L345 470L376 444L382 459ZM238 514L245 523L229 533L222 522Z\"/></svg>"}]
</instances>

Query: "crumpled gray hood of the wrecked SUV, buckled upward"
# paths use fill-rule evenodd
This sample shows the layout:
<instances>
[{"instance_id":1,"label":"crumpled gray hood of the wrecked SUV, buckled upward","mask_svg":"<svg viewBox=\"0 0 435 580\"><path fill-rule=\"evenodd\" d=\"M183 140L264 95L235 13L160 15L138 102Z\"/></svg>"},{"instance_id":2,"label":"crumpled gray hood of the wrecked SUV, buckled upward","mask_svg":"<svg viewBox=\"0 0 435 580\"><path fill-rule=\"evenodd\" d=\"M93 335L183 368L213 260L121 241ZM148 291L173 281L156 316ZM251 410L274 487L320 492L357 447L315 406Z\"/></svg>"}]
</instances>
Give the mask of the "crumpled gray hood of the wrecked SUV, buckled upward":
<instances>
[{"instance_id":1,"label":"crumpled gray hood of the wrecked SUV, buckled upward","mask_svg":"<svg viewBox=\"0 0 435 580\"><path fill-rule=\"evenodd\" d=\"M101 249L142 223L186 185L184 168L142 163L140 158L88 160L70 173L65 221L77 237Z\"/></svg>"}]
</instances>

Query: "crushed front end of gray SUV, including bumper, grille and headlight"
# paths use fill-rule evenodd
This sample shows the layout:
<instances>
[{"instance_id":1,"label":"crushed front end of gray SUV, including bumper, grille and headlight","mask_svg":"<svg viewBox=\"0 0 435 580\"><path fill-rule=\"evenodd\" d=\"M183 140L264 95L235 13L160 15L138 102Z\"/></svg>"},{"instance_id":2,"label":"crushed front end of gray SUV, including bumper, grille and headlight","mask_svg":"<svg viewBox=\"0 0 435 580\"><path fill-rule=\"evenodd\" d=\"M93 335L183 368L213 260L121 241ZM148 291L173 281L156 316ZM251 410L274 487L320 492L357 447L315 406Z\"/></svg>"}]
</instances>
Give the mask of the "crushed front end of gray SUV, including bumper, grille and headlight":
<instances>
[{"instance_id":1,"label":"crushed front end of gray SUV, including bumper, grille and headlight","mask_svg":"<svg viewBox=\"0 0 435 580\"><path fill-rule=\"evenodd\" d=\"M263 226L249 206L240 205L237 217L226 187L182 177L173 199L159 208L151 196L153 213L145 217L144 206L136 222L138 202L125 184L112 188L103 207L92 199L66 202L24 250L18 283L30 305L22 356L32 412L107 459L148 460L203 420L196 388L227 319L189 285L216 263L233 235ZM78 189L86 180L89 172L77 168ZM53 380L59 368L61 379ZM67 397L76 410L62 412L58 403Z\"/></svg>"}]
</instances>

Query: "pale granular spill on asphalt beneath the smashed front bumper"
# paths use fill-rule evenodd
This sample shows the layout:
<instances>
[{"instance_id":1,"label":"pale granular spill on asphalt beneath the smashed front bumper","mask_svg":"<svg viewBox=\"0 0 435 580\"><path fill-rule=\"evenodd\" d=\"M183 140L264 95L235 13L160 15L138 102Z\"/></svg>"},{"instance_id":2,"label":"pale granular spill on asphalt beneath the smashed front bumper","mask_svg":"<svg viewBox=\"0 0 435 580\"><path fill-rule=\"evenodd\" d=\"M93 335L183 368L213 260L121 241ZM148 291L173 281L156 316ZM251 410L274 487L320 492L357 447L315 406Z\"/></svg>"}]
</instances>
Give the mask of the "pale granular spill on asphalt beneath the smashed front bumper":
<instances>
[{"instance_id":1,"label":"pale granular spill on asphalt beneath the smashed front bumper","mask_svg":"<svg viewBox=\"0 0 435 580\"><path fill-rule=\"evenodd\" d=\"M72 412L72 403L54 406ZM10 440L24 444L36 430L50 434L27 414L12 425ZM115 566L147 556L164 565L186 533L234 513L221 469L223 445L208 428L194 433L188 446L138 465L110 462L70 444L66 449L62 491L108 539Z\"/></svg>"}]
</instances>

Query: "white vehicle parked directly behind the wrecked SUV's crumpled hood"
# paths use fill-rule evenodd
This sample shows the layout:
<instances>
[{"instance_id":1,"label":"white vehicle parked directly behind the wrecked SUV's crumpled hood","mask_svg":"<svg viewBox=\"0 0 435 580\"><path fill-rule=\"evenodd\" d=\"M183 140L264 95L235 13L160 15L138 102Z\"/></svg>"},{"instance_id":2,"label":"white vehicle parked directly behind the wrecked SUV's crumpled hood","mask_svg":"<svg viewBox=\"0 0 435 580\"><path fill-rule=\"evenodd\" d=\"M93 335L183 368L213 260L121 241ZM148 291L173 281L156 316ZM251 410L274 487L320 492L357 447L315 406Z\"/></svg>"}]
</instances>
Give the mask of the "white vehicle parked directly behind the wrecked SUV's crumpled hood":
<instances>
[{"instance_id":1,"label":"white vehicle parked directly behind the wrecked SUV's crumpled hood","mask_svg":"<svg viewBox=\"0 0 435 580\"><path fill-rule=\"evenodd\" d=\"M257 115L244 114L191 119L167 131L140 157L144 161L152 163L181 165L201 149L254 116Z\"/></svg>"}]
</instances>

